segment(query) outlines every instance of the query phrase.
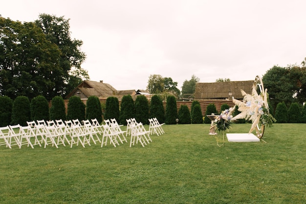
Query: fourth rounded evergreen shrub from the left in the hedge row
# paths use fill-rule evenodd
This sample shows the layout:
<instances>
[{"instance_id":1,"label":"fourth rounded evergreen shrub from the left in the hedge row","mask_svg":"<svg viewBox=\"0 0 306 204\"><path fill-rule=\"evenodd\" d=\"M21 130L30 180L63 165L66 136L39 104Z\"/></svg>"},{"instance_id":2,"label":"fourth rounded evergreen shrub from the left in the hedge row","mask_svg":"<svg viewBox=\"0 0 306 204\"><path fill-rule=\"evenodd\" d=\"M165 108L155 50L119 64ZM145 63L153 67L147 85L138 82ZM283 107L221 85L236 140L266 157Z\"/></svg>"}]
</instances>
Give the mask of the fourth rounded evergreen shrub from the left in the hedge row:
<instances>
[{"instance_id":1,"label":"fourth rounded evergreen shrub from the left in the hedge row","mask_svg":"<svg viewBox=\"0 0 306 204\"><path fill-rule=\"evenodd\" d=\"M66 121L66 107L64 99L61 96L53 97L49 115L51 121Z\"/></svg>"}]
</instances>

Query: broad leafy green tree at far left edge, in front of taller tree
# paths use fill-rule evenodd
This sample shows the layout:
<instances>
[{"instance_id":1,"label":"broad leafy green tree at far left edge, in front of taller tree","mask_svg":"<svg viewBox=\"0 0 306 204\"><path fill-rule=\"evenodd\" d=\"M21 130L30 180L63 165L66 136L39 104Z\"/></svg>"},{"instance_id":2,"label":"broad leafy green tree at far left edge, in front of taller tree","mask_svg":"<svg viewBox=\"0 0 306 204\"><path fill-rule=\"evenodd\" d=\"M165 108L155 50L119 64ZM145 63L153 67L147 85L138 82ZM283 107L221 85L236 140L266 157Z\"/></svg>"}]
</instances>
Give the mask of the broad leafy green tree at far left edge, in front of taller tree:
<instances>
[{"instance_id":1,"label":"broad leafy green tree at far left edge, in front of taller tree","mask_svg":"<svg viewBox=\"0 0 306 204\"><path fill-rule=\"evenodd\" d=\"M11 99L42 95L48 100L57 95L63 75L58 46L32 22L0 17L0 34L0 94Z\"/></svg>"}]
</instances>

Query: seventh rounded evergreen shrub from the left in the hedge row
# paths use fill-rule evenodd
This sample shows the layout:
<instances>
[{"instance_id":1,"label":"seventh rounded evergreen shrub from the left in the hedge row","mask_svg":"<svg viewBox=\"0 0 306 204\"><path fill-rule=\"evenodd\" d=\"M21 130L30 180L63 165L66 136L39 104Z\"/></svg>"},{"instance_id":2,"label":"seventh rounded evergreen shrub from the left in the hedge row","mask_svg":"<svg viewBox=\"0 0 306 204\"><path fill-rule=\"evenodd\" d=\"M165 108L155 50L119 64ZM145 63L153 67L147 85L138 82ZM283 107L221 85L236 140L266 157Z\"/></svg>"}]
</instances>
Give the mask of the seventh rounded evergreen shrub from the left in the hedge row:
<instances>
[{"instance_id":1,"label":"seventh rounded evergreen shrub from the left in the hedge row","mask_svg":"<svg viewBox=\"0 0 306 204\"><path fill-rule=\"evenodd\" d=\"M119 117L119 100L116 97L110 96L106 99L104 119L116 119L116 121L119 122Z\"/></svg>"}]
</instances>

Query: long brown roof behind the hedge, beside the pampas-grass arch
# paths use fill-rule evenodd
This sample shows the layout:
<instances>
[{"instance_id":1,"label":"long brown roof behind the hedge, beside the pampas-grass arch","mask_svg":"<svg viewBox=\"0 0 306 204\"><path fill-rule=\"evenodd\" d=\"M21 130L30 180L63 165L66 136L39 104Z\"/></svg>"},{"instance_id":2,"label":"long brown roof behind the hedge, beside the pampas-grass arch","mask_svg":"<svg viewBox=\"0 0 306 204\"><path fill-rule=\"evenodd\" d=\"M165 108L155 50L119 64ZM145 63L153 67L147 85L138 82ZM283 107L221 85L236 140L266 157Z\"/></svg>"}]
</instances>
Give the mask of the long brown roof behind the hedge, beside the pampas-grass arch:
<instances>
[{"instance_id":1,"label":"long brown roof behind the hedge, beside the pampas-grass arch","mask_svg":"<svg viewBox=\"0 0 306 204\"><path fill-rule=\"evenodd\" d=\"M243 99L241 89L252 93L254 81L196 83L195 100Z\"/></svg>"}]
</instances>

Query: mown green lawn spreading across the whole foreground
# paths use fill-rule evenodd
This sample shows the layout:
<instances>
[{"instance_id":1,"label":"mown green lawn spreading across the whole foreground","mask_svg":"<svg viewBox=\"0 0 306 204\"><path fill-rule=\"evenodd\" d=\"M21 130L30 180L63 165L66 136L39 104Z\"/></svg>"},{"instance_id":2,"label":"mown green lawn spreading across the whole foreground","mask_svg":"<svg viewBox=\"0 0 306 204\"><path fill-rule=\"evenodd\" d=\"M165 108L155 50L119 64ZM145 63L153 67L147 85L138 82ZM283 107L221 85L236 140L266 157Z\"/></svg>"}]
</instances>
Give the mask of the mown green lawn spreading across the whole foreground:
<instances>
[{"instance_id":1,"label":"mown green lawn spreading across the whole foreground","mask_svg":"<svg viewBox=\"0 0 306 204\"><path fill-rule=\"evenodd\" d=\"M306 203L306 124L274 124L266 143L225 138L222 147L209 124L163 128L145 148L0 146L0 203Z\"/></svg>"}]
</instances>

